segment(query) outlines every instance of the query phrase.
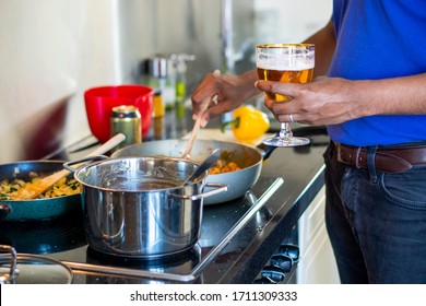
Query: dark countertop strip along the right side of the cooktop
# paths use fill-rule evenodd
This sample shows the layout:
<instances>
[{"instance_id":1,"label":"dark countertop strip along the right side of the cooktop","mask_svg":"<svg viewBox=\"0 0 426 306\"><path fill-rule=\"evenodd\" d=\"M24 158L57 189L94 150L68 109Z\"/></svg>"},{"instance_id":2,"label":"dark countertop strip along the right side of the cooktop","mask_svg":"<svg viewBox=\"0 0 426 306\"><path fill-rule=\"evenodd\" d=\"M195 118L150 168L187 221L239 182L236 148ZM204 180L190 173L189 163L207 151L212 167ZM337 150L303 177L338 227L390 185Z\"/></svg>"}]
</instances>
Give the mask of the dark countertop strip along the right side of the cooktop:
<instances>
[{"instance_id":1,"label":"dark countertop strip along the right side of the cooktop","mask_svg":"<svg viewBox=\"0 0 426 306\"><path fill-rule=\"evenodd\" d=\"M297 221L323 186L323 151L324 146L276 149L265 161L261 177L282 177L284 184L264 205L268 214L257 231L247 228L228 246L238 251L226 255L226 272L214 282L251 283L280 245L297 246ZM242 249L237 247L239 240L247 242ZM211 268L214 270L214 264Z\"/></svg>"}]
</instances>

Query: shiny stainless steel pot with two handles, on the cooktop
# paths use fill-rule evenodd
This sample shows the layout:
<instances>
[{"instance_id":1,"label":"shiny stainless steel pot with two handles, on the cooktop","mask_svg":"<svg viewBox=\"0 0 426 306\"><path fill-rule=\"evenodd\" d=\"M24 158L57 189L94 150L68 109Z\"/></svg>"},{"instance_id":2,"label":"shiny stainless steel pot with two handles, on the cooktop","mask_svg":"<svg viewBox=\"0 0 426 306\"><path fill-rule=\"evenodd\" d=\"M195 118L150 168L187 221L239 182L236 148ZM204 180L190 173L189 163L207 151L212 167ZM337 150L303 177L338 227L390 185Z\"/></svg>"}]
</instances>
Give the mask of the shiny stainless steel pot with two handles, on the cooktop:
<instances>
[{"instance_id":1,"label":"shiny stainless steel pot with two handles, on the cooktop","mask_svg":"<svg viewBox=\"0 0 426 306\"><path fill-rule=\"evenodd\" d=\"M73 163L79 163L73 162ZM71 163L64 166L69 169ZM181 186L197 164L182 158L113 158L74 174L83 186L87 243L126 257L156 258L193 247L200 237L203 199L225 191L223 184ZM204 192L204 187L215 189Z\"/></svg>"}]
</instances>

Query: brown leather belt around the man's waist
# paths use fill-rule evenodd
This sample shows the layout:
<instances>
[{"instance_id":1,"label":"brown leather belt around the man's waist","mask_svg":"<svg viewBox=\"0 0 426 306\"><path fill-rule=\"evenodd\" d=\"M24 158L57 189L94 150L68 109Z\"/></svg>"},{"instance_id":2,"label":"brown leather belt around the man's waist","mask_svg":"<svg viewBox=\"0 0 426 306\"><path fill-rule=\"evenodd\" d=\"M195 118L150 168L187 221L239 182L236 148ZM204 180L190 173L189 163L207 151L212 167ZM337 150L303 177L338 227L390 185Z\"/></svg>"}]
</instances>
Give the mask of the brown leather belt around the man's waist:
<instances>
[{"instance_id":1,"label":"brown leather belt around the man's waist","mask_svg":"<svg viewBox=\"0 0 426 306\"><path fill-rule=\"evenodd\" d=\"M367 168L367 148L335 142L338 161L355 168ZM384 173L401 173L414 165L426 164L426 145L378 148L375 167Z\"/></svg>"}]
</instances>

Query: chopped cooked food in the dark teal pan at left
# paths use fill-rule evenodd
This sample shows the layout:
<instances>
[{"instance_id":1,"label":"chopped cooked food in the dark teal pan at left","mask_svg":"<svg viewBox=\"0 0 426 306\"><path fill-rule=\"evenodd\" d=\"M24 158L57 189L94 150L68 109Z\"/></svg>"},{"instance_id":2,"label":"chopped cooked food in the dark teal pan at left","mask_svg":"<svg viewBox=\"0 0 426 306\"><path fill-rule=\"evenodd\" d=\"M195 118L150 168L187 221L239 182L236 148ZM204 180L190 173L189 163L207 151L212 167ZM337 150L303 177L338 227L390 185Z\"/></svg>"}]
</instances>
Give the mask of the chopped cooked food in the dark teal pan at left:
<instances>
[{"instance_id":1,"label":"chopped cooked food in the dark teal pan at left","mask_svg":"<svg viewBox=\"0 0 426 306\"><path fill-rule=\"evenodd\" d=\"M29 173L28 179L3 179L0 181L0 200L12 200L10 195L26 185L33 184L39 180L43 176L37 173ZM42 193L37 199L66 197L76 195L81 192L80 184L75 179L69 179L67 177L61 178L46 192ZM13 200L25 200L25 199L13 199Z\"/></svg>"}]
</instances>

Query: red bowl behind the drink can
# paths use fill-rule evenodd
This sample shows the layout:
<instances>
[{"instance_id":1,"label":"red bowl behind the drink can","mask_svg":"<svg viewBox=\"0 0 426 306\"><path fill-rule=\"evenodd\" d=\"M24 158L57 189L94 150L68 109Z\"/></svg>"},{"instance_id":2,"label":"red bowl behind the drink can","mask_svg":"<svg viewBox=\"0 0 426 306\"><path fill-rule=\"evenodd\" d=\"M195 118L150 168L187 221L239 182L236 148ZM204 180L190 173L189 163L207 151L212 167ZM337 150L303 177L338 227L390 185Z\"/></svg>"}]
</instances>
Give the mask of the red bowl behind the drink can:
<instances>
[{"instance_id":1,"label":"red bowl behind the drink can","mask_svg":"<svg viewBox=\"0 0 426 306\"><path fill-rule=\"evenodd\" d=\"M113 107L134 105L142 119L142 136L151 128L154 91L142 85L118 85L90 89L84 93L84 103L92 133L102 142L110 139Z\"/></svg>"}]
</instances>

